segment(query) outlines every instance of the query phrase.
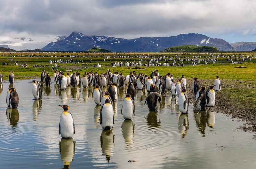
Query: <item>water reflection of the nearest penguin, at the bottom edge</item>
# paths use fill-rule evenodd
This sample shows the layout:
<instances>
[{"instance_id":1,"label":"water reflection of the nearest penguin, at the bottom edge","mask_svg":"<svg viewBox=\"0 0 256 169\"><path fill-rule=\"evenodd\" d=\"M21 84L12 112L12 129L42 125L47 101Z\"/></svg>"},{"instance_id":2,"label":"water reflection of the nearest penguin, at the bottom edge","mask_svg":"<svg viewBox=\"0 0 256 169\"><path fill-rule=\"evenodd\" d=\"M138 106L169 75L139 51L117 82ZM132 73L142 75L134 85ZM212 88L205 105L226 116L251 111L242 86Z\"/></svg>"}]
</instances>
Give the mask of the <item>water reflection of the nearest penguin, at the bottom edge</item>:
<instances>
[{"instance_id":1,"label":"water reflection of the nearest penguin, at the bottom edge","mask_svg":"<svg viewBox=\"0 0 256 169\"><path fill-rule=\"evenodd\" d=\"M63 162L63 168L69 168L75 154L76 141L73 138L61 138L60 140L60 158Z\"/></svg>"}]
</instances>

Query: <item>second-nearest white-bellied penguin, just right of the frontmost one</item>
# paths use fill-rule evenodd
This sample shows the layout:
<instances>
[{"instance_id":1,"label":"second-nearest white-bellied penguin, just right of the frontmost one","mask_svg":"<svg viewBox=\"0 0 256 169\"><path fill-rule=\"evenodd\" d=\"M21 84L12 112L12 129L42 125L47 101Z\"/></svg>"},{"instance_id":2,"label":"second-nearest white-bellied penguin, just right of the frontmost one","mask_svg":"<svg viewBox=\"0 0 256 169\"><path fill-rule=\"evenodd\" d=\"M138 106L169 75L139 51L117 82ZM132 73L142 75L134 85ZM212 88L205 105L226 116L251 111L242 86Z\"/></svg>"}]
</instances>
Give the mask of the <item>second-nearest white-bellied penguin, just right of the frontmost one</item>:
<instances>
[{"instance_id":1,"label":"second-nearest white-bellied penguin, just right of the frontmost one","mask_svg":"<svg viewBox=\"0 0 256 169\"><path fill-rule=\"evenodd\" d=\"M107 99L105 104L103 104L100 111L100 125L103 130L110 130L115 124L114 121L114 110L110 100Z\"/></svg>"}]
</instances>

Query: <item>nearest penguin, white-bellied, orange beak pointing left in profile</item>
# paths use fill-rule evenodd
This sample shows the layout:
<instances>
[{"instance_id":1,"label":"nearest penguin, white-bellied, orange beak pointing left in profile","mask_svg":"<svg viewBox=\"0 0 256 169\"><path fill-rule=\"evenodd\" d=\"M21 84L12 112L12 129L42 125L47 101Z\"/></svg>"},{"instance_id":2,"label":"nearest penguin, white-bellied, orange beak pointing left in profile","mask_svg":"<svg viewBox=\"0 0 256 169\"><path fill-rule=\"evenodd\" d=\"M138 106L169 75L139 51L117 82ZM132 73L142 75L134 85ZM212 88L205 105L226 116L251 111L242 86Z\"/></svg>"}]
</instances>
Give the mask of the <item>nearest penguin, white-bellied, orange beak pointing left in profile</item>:
<instances>
[{"instance_id":1,"label":"nearest penguin, white-bellied, orange beak pointing left in profile","mask_svg":"<svg viewBox=\"0 0 256 169\"><path fill-rule=\"evenodd\" d=\"M59 105L64 109L60 115L59 134L62 138L72 138L76 134L75 123L68 105Z\"/></svg>"}]
</instances>

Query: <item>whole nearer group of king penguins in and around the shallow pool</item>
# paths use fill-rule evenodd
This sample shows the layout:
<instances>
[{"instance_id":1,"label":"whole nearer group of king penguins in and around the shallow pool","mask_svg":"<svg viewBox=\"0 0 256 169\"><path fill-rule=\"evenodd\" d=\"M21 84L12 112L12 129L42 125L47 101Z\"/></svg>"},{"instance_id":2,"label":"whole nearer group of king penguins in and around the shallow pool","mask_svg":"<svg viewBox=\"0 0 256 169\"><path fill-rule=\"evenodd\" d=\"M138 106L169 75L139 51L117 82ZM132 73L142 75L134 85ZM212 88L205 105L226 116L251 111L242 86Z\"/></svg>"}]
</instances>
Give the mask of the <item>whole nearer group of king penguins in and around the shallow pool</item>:
<instances>
[{"instance_id":1,"label":"whole nearer group of king penguins in and around the shallow pool","mask_svg":"<svg viewBox=\"0 0 256 169\"><path fill-rule=\"evenodd\" d=\"M98 72L85 72L81 77L79 72L73 74L54 71L53 81L58 83L60 90L65 90L68 86L76 87L81 85L84 88L89 86L95 87L93 91L94 102L101 106L100 111L100 124L103 130L111 130L115 124L114 122L114 110L113 102L116 102L118 98L117 87L128 85L127 92L122 103L121 114L125 120L131 120L135 116L134 102L135 90L146 89L148 97L144 104L147 105L149 111L157 111L157 105L160 104L161 95L168 90L171 90L171 96L178 97L178 105L181 113L188 113L189 99L187 95L187 80L184 75L181 78L173 78L174 74L167 73L164 76L159 76L158 71L152 71L150 76L147 74L139 73L135 71L124 76L122 73L108 72L98 74ZM221 90L221 80L219 76L216 76L214 85L209 86L207 91L206 87L201 86L198 78L193 77L192 83L193 94L196 98L195 106L199 111L205 111L205 107L212 107L215 105L215 91ZM46 86L50 86L52 81L49 73L45 70L42 71L40 76L40 82L45 83ZM0 83L3 82L3 75L0 73ZM14 83L13 72L9 75L10 85ZM33 80L32 82L32 95L35 99L42 99L42 87L39 81ZM102 92L101 88L106 88L108 91ZM158 101L158 104L157 104ZM16 89L10 87L6 95L6 104L11 109L16 109L19 104L19 96ZM63 108L63 112L60 116L59 134L63 138L72 138L75 132L75 123L72 114L69 112L68 105L59 105Z\"/></svg>"}]
</instances>

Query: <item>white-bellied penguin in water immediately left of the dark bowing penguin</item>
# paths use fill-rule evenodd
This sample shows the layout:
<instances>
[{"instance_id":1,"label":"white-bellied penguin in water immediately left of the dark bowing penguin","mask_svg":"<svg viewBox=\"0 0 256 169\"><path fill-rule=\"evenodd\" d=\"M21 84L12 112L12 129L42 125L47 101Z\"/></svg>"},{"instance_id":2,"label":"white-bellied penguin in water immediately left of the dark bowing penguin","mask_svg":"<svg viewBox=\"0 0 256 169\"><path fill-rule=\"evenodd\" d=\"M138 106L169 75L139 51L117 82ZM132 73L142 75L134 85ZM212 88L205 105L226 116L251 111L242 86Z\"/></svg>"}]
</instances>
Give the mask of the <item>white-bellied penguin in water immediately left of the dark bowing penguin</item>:
<instances>
[{"instance_id":1,"label":"white-bellied penguin in water immediately left of the dark bowing penguin","mask_svg":"<svg viewBox=\"0 0 256 169\"><path fill-rule=\"evenodd\" d=\"M124 97L123 100L121 114L123 115L125 120L131 120L132 116L134 116L133 99L129 93L125 93L125 95L126 97Z\"/></svg>"}]
</instances>

